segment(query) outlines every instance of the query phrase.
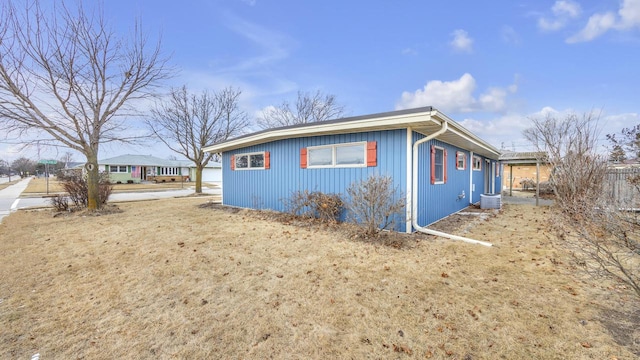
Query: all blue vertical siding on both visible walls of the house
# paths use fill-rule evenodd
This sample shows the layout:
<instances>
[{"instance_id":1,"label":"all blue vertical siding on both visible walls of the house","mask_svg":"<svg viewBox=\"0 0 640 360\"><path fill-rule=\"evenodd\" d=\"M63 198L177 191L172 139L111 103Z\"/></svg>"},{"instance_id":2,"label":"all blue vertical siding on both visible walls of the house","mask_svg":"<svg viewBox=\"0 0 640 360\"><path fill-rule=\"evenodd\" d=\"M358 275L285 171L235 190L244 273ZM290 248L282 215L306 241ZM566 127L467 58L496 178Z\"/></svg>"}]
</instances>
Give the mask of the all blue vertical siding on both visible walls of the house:
<instances>
[{"instance_id":1,"label":"all blue vertical siding on both visible walls of the house","mask_svg":"<svg viewBox=\"0 0 640 360\"><path fill-rule=\"evenodd\" d=\"M413 133L412 136L413 142L424 138L424 135L418 133ZM313 136L278 140L225 152L222 155L223 203L237 207L286 211L286 200L296 191L321 191L345 196L346 189L351 183L366 179L372 174L391 176L397 195L404 197L407 193L406 137L405 129ZM302 148L362 141L377 142L377 166L300 168L300 149ZM447 151L445 184L431 184L430 149L432 145ZM270 169L231 170L232 155L262 151L270 153ZM456 168L457 151L462 151L467 156L467 168L464 170ZM427 226L464 209L469 203L480 201L480 194L484 192L485 172L491 171L484 157L481 157L482 171L473 171L473 159L468 150L435 139L421 144L417 156L418 213L414 216L417 216L419 225ZM496 163L495 160L491 162ZM501 186L500 179L500 176L495 177L497 192ZM475 185L473 194L470 194L470 181ZM463 193L464 197L459 196ZM405 231L404 213L397 217L395 230Z\"/></svg>"}]
</instances>

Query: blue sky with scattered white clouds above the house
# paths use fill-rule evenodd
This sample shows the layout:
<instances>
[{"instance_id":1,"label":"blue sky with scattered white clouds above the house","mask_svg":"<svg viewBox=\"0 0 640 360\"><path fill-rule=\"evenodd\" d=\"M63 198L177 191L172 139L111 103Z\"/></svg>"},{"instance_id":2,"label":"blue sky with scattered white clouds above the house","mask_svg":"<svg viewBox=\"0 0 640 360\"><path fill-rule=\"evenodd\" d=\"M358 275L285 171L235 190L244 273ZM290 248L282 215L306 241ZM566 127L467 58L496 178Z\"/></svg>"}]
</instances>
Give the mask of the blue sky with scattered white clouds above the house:
<instances>
[{"instance_id":1,"label":"blue sky with scattered white clouds above the house","mask_svg":"<svg viewBox=\"0 0 640 360\"><path fill-rule=\"evenodd\" d=\"M640 123L640 0L108 0L179 70L174 86L242 90L261 109L297 92L336 95L349 115L434 106L494 146L525 151L531 117L600 113L602 138ZM0 148L2 151L2 148ZM0 158L15 153L0 152ZM110 146L172 153L162 145Z\"/></svg>"}]
</instances>

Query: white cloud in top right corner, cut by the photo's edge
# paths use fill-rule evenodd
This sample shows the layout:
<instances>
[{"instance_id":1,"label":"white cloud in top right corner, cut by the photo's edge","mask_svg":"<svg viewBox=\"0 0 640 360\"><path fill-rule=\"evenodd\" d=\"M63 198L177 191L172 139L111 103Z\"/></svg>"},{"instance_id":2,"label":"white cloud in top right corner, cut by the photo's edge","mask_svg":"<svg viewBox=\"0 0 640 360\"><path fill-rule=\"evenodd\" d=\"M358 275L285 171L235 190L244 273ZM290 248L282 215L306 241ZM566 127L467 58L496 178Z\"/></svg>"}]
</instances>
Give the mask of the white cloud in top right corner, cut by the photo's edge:
<instances>
[{"instance_id":1,"label":"white cloud in top right corner, cut by the photo's edge","mask_svg":"<svg viewBox=\"0 0 640 360\"><path fill-rule=\"evenodd\" d=\"M587 25L567 39L568 43L591 41L609 30L627 31L640 27L640 0L624 0L618 9L596 13L589 17Z\"/></svg>"}]
</instances>

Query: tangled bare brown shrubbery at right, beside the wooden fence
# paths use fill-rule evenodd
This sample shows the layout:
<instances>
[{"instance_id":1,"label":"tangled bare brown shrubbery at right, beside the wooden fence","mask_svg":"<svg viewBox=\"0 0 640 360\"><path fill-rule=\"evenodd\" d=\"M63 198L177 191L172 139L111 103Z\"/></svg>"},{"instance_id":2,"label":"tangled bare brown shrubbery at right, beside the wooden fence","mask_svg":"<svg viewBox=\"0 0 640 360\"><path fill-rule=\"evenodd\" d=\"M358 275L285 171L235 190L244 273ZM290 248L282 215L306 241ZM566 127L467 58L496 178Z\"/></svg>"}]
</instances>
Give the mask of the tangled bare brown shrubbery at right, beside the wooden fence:
<instances>
[{"instance_id":1,"label":"tangled bare brown shrubbery at right, beside the wooden fence","mask_svg":"<svg viewBox=\"0 0 640 360\"><path fill-rule=\"evenodd\" d=\"M588 272L620 280L640 296L640 217L613 196L607 156L597 151L597 119L548 115L533 119L524 135L552 167L560 238ZM634 185L640 192L640 182Z\"/></svg>"}]
</instances>

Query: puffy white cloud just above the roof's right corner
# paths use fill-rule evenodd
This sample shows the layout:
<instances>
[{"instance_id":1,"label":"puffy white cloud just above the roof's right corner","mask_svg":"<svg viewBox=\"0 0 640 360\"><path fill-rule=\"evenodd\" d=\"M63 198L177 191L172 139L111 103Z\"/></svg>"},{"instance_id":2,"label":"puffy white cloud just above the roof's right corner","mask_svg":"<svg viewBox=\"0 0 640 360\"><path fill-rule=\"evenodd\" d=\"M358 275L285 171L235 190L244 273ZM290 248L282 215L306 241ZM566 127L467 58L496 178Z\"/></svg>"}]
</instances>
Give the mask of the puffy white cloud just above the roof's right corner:
<instances>
[{"instance_id":1,"label":"puffy white cloud just above the roof's right corner","mask_svg":"<svg viewBox=\"0 0 640 360\"><path fill-rule=\"evenodd\" d=\"M476 80L469 73L453 81L431 80L423 89L415 92L405 91L396 109L409 109L421 106L434 106L449 113L490 111L501 112L507 107L507 96L518 90L513 84L502 87L491 87L475 98Z\"/></svg>"}]
</instances>

